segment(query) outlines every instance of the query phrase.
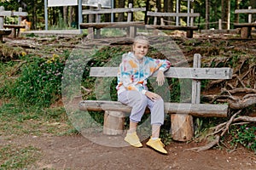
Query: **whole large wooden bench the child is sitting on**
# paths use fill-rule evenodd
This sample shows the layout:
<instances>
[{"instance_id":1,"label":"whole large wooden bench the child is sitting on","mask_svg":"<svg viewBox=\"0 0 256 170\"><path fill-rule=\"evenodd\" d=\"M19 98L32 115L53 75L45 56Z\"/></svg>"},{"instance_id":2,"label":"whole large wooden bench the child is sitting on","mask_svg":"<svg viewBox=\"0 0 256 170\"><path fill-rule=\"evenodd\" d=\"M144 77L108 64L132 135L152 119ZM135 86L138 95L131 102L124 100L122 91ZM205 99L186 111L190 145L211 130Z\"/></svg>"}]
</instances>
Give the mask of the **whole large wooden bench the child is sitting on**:
<instances>
[{"instance_id":1,"label":"whole large wooden bench the child is sitting on","mask_svg":"<svg viewBox=\"0 0 256 170\"><path fill-rule=\"evenodd\" d=\"M185 78L192 80L191 103L165 102L165 112L171 114L172 139L188 141L194 136L193 116L226 117L228 105L201 104L202 79L231 79L230 68L200 68L201 55L195 54L194 67L171 67L165 72L168 78ZM91 67L90 77L117 77L118 67ZM155 77L156 74L153 75ZM172 93L172 92L170 92ZM103 133L108 135L122 134L125 114L131 107L118 101L82 100L81 111L105 111Z\"/></svg>"}]
</instances>

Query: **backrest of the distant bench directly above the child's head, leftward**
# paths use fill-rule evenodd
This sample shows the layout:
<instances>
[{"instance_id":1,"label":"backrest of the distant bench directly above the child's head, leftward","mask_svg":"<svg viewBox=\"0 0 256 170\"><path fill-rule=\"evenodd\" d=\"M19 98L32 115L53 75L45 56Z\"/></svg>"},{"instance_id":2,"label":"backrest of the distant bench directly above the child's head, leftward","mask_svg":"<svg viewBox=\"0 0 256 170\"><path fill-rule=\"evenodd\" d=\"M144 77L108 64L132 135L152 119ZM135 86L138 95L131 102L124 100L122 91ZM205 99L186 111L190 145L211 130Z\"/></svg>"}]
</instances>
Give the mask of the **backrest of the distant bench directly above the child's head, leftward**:
<instances>
[{"instance_id":1,"label":"backrest of the distant bench directly above the child's head, leftward","mask_svg":"<svg viewBox=\"0 0 256 170\"><path fill-rule=\"evenodd\" d=\"M96 9L87 9L83 10L82 14L96 14L96 22L101 21L101 14L115 14L115 13L127 13L127 22L131 21L131 14L133 12L139 12L139 11L146 11L146 8L132 8L132 4L129 3L128 8L102 8L101 4L99 4L98 8Z\"/></svg>"}]
</instances>

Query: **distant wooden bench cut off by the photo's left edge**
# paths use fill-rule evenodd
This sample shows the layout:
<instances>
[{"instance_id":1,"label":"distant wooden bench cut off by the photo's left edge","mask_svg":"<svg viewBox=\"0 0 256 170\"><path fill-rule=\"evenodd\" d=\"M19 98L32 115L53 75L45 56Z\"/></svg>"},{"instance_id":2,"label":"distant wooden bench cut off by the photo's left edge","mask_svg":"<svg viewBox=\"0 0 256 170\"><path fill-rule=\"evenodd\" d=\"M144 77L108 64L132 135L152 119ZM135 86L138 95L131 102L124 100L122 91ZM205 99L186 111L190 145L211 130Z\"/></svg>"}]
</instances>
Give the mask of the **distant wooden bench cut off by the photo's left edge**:
<instances>
[{"instance_id":1,"label":"distant wooden bench cut off by the photo's left edge","mask_svg":"<svg viewBox=\"0 0 256 170\"><path fill-rule=\"evenodd\" d=\"M4 24L4 17L6 16L18 16L18 25L5 25ZM22 12L22 8L19 8L18 12L15 11L5 11L4 7L0 7L0 29L3 28L10 28L14 32L14 37L18 37L20 34L20 28L25 28L25 25L20 25L21 18L27 16L26 12ZM1 39L3 39L3 35L6 34L0 34Z\"/></svg>"}]
</instances>

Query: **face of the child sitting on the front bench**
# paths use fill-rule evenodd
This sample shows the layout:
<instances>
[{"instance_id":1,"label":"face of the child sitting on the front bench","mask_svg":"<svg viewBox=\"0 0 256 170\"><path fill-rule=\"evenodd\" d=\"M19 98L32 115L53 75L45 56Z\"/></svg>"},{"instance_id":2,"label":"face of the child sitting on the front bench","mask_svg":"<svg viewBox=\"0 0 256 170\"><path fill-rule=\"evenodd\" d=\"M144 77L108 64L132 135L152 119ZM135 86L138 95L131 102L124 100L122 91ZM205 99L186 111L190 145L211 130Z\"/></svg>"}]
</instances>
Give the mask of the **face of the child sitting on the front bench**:
<instances>
[{"instance_id":1,"label":"face of the child sitting on the front bench","mask_svg":"<svg viewBox=\"0 0 256 170\"><path fill-rule=\"evenodd\" d=\"M143 57L148 53L148 42L139 41L133 44L133 52L137 59L143 59Z\"/></svg>"}]
</instances>

